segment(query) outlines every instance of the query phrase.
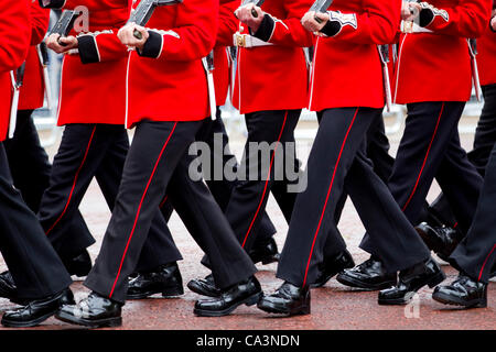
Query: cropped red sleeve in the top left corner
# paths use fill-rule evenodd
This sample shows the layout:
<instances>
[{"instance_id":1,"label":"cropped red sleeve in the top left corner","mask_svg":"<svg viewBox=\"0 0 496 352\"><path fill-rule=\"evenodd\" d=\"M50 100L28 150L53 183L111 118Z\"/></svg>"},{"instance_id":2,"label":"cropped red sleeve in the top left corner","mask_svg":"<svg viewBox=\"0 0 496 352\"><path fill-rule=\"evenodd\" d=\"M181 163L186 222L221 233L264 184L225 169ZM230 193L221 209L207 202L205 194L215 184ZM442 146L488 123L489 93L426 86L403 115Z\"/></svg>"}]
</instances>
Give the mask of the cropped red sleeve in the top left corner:
<instances>
[{"instance_id":1,"label":"cropped red sleeve in the top left corner","mask_svg":"<svg viewBox=\"0 0 496 352\"><path fill-rule=\"evenodd\" d=\"M24 62L31 38L28 0L0 1L0 72L18 68Z\"/></svg>"}]
</instances>

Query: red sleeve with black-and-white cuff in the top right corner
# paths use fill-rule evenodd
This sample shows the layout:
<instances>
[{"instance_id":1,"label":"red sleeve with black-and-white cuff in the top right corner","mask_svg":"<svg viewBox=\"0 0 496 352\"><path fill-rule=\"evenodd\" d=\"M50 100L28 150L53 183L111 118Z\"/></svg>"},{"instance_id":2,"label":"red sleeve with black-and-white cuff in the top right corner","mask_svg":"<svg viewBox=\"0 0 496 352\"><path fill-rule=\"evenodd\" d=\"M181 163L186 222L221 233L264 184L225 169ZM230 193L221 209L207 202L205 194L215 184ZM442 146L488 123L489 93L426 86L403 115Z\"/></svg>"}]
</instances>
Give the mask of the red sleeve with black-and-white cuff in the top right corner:
<instances>
[{"instance_id":1,"label":"red sleeve with black-and-white cuff in the top right corner","mask_svg":"<svg viewBox=\"0 0 496 352\"><path fill-rule=\"evenodd\" d=\"M440 34L478 37L490 18L490 0L465 0L452 8L436 9L421 2L420 26Z\"/></svg>"}]
</instances>

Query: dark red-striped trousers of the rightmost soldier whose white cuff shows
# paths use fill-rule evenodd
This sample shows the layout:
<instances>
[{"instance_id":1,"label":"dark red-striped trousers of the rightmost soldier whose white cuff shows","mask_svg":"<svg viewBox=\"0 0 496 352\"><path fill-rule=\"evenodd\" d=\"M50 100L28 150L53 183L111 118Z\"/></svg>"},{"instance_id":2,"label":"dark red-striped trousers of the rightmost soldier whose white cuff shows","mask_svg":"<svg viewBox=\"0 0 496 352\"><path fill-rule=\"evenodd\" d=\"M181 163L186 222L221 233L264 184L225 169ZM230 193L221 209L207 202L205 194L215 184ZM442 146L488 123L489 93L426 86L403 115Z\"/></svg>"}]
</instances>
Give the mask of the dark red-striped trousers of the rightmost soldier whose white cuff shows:
<instances>
[{"instance_id":1,"label":"dark red-striped trousers of the rightmost soldier whose white cuff shows","mask_svg":"<svg viewBox=\"0 0 496 352\"><path fill-rule=\"evenodd\" d=\"M434 177L461 229L466 231L472 223L483 180L460 145L457 124L464 106L464 102L408 105L405 132L388 186L413 226L419 223ZM377 254L369 240L366 235L360 248Z\"/></svg>"}]
</instances>

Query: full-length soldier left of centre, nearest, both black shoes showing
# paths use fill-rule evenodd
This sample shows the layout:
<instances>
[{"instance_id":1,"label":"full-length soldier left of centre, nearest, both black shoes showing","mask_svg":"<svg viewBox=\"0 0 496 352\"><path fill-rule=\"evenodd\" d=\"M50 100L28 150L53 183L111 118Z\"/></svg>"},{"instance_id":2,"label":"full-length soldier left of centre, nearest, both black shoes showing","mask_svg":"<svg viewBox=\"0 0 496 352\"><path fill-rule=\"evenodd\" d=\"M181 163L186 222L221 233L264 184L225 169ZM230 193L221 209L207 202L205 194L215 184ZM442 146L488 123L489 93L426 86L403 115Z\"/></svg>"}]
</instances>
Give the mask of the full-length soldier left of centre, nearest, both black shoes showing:
<instances>
[{"instance_id":1,"label":"full-length soldier left of centre, nearest, both black shoes showing","mask_svg":"<svg viewBox=\"0 0 496 352\"><path fill-rule=\"evenodd\" d=\"M202 57L214 47L217 16L216 1L187 0L159 7L148 24L157 30L129 23L119 31L122 44L136 48L130 54L127 109L127 127L136 127L136 133L100 253L85 280L91 293L77 306L65 306L58 319L89 327L121 323L127 277L165 193L188 220L185 224L209 256L222 289L219 299L197 301L194 312L224 316L261 296L256 268L220 208L206 186L187 174L187 150L211 116Z\"/></svg>"}]
</instances>

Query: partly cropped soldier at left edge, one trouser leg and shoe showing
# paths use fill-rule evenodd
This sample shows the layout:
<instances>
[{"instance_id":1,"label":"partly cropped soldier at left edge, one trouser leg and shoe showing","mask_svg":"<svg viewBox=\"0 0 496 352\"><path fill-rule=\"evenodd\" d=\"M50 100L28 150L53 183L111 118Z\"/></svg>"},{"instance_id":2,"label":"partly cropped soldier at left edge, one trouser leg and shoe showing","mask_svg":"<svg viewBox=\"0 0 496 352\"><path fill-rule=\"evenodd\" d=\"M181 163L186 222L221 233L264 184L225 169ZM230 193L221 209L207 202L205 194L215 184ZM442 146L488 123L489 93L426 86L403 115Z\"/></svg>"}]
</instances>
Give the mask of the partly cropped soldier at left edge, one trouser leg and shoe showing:
<instances>
[{"instance_id":1,"label":"partly cropped soldier at left edge, one trouser leg and shoe showing","mask_svg":"<svg viewBox=\"0 0 496 352\"><path fill-rule=\"evenodd\" d=\"M9 131L12 70L24 62L31 35L31 1L0 3L0 141ZM12 35L15 33L15 35ZM62 302L73 301L71 276L43 233L35 215L13 187L3 143L0 142L0 227L2 256L24 307L7 311L7 327L33 327L53 316Z\"/></svg>"}]
</instances>

